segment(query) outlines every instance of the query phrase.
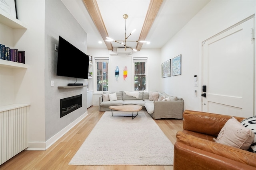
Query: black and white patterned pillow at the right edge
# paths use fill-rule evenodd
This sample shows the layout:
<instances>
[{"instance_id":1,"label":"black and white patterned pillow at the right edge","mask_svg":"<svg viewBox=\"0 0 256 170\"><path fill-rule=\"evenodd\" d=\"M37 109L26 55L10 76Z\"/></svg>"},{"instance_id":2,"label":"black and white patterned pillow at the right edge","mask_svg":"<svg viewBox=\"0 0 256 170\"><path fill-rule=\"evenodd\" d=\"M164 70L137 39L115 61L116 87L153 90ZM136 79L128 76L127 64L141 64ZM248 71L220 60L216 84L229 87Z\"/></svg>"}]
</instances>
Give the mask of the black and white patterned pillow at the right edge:
<instances>
[{"instance_id":1,"label":"black and white patterned pillow at the right edge","mask_svg":"<svg viewBox=\"0 0 256 170\"><path fill-rule=\"evenodd\" d=\"M241 124L244 127L247 127L249 129L252 129L254 132L254 141L252 142L252 145L250 146L254 153L256 153L256 116L248 117L241 121Z\"/></svg>"}]
</instances>

